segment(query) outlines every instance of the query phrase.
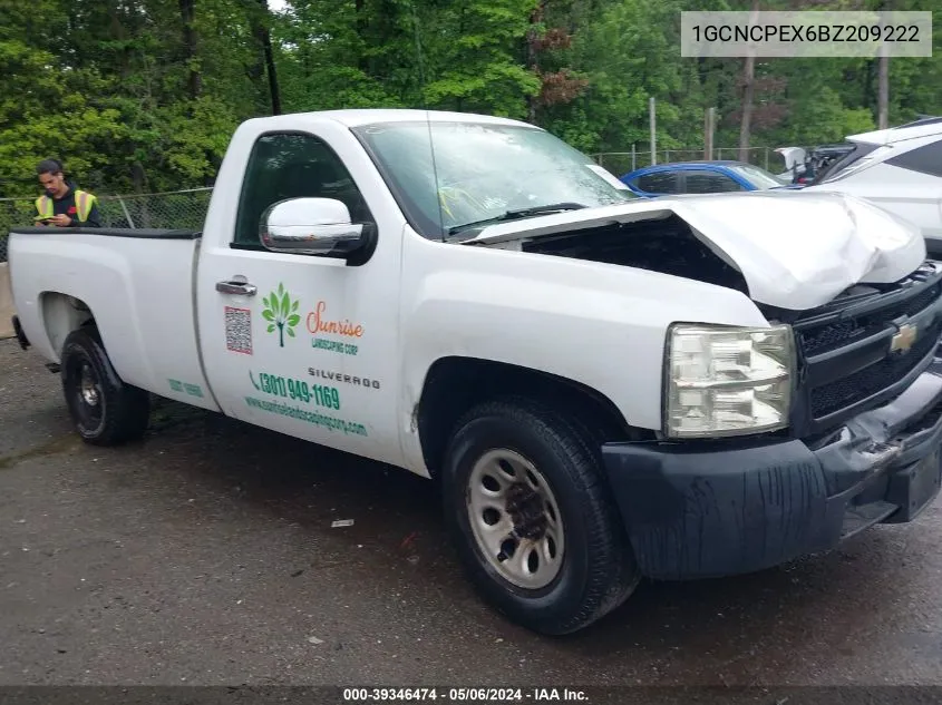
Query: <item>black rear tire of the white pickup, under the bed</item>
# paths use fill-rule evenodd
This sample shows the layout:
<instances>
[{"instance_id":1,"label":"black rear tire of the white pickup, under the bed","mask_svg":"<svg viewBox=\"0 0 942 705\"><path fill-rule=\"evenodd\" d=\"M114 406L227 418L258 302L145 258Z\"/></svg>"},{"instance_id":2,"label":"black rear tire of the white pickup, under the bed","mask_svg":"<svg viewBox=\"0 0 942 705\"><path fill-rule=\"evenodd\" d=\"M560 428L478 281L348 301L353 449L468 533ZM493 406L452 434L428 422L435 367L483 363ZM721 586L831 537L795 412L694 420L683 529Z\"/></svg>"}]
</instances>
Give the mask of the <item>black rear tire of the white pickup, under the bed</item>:
<instances>
[{"instance_id":1,"label":"black rear tire of the white pickup, under the bed","mask_svg":"<svg viewBox=\"0 0 942 705\"><path fill-rule=\"evenodd\" d=\"M120 445L147 431L150 395L126 384L111 365L98 330L86 326L66 337L61 355L62 392L79 435L93 445ZM91 383L82 394L82 378Z\"/></svg>"}]
</instances>

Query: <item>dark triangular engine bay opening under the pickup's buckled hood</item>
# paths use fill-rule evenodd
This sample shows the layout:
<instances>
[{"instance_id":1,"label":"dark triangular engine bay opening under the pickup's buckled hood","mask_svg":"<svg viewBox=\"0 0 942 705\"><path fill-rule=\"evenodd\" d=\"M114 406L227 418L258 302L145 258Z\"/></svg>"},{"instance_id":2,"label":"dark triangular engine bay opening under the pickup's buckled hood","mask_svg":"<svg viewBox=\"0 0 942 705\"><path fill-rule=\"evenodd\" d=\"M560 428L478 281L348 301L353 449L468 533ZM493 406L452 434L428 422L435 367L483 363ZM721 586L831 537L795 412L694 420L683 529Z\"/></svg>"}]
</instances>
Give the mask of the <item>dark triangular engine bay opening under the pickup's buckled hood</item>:
<instances>
[{"instance_id":1,"label":"dark triangular engine bay opening under the pickup's buckled hood","mask_svg":"<svg viewBox=\"0 0 942 705\"><path fill-rule=\"evenodd\" d=\"M523 252L639 267L749 294L742 274L710 251L676 215L608 223L524 242Z\"/></svg>"}]
</instances>

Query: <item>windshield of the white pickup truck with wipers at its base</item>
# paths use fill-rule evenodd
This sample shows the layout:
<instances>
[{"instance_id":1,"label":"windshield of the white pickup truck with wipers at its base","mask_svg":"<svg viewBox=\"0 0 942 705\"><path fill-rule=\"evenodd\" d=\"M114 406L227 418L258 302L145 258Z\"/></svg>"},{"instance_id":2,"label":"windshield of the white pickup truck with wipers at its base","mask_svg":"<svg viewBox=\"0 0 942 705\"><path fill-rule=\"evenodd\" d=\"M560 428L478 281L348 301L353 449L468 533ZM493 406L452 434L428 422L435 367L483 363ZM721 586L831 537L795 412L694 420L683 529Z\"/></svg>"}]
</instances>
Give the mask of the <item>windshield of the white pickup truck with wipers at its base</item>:
<instances>
[{"instance_id":1,"label":"windshield of the white pickup truck with wipers at its base","mask_svg":"<svg viewBox=\"0 0 942 705\"><path fill-rule=\"evenodd\" d=\"M507 212L538 215L554 204L564 209L638 198L591 158L533 127L435 120L353 133L424 237L472 237Z\"/></svg>"}]
</instances>

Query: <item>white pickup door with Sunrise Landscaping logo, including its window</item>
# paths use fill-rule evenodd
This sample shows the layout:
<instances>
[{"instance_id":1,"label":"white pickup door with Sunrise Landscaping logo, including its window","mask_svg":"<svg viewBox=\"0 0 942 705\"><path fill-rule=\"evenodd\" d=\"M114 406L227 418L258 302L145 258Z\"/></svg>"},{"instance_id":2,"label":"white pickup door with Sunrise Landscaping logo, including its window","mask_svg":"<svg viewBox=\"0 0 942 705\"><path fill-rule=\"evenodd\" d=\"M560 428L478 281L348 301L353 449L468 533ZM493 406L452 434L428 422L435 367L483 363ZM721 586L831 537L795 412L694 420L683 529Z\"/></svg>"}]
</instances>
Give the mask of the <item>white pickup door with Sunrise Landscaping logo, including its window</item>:
<instances>
[{"instance_id":1,"label":"white pickup door with Sunrise Landscaping logo, including its window","mask_svg":"<svg viewBox=\"0 0 942 705\"><path fill-rule=\"evenodd\" d=\"M216 189L239 185L224 209L211 209L201 251L197 309L206 376L227 415L389 461L400 453L401 225L369 207L363 197L369 189L333 148L343 140L329 141L304 125L258 135L242 157L244 179L230 173L221 182L231 180L216 184ZM298 197L336 198L352 222L375 223L371 257L348 266L343 260L265 249L263 213Z\"/></svg>"}]
</instances>

